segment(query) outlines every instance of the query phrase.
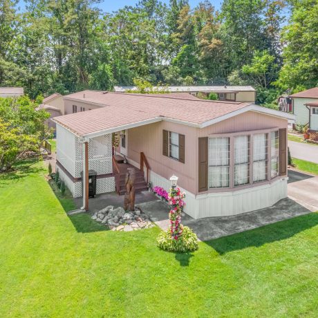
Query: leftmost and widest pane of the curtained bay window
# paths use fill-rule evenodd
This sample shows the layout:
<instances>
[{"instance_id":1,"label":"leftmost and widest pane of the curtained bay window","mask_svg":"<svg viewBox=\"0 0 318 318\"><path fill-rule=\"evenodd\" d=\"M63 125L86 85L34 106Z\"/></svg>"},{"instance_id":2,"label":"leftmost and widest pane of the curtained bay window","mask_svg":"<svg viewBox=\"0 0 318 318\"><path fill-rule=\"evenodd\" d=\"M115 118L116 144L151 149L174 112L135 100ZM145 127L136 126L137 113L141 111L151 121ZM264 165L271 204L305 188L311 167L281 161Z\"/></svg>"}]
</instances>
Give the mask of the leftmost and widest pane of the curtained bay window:
<instances>
[{"instance_id":1,"label":"leftmost and widest pane of the curtained bay window","mask_svg":"<svg viewBox=\"0 0 318 318\"><path fill-rule=\"evenodd\" d=\"M209 138L209 188L230 186L230 138Z\"/></svg>"}]
</instances>

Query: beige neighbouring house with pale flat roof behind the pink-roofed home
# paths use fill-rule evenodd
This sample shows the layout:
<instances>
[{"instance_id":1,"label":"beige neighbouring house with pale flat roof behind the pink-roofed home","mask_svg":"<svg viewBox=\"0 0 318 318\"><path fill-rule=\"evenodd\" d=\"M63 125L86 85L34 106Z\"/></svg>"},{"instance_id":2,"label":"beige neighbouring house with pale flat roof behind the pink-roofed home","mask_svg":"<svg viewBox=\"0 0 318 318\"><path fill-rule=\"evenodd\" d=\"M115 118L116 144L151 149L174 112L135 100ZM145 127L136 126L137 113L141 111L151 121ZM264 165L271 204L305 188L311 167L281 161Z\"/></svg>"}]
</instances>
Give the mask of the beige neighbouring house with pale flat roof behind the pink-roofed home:
<instances>
[{"instance_id":1,"label":"beige neighbouring house with pale flat roof behind the pink-roofed home","mask_svg":"<svg viewBox=\"0 0 318 318\"><path fill-rule=\"evenodd\" d=\"M256 91L252 86L167 86L162 87L171 93L189 93L197 95L199 92L205 95L216 93L218 100L231 102L250 102L256 101ZM127 90L135 91L135 86L115 86L116 93L124 93Z\"/></svg>"}]
</instances>

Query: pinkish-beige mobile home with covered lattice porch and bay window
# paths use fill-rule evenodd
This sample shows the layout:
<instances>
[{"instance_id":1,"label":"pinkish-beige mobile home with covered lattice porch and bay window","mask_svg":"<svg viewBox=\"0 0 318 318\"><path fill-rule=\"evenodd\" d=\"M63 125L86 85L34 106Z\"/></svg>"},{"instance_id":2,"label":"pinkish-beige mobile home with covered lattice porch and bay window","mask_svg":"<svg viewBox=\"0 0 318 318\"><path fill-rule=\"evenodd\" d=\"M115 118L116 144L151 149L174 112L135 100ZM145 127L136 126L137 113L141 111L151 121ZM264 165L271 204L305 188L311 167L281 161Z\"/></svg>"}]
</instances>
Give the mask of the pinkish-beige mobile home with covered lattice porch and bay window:
<instances>
[{"instance_id":1,"label":"pinkish-beige mobile home with covered lattice porch and bay window","mask_svg":"<svg viewBox=\"0 0 318 318\"><path fill-rule=\"evenodd\" d=\"M169 94L84 91L65 102L66 109L97 108L54 119L59 176L79 197L84 171L84 207L88 169L97 172L98 194L122 193L125 164L118 168L112 156L113 133L120 134L118 153L138 173L136 188L142 189L141 171L166 190L176 174L187 194L185 212L194 218L249 212L287 196L289 113Z\"/></svg>"}]
</instances>

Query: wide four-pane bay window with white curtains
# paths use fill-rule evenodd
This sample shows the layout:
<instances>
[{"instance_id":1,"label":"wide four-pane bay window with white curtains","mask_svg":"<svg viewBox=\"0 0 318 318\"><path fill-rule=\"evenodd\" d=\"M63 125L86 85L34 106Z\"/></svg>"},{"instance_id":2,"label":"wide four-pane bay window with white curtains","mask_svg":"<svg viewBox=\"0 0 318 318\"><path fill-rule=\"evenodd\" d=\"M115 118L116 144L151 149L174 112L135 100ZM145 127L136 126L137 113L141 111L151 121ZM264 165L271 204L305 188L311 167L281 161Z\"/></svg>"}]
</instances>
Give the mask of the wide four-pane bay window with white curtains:
<instances>
[{"instance_id":1,"label":"wide four-pane bay window with white curtains","mask_svg":"<svg viewBox=\"0 0 318 318\"><path fill-rule=\"evenodd\" d=\"M279 176L279 131L207 138L199 151L206 189L241 187ZM200 150L200 149L199 149ZM206 158L206 159L205 159ZM206 162L206 163L205 163ZM203 185L204 185L204 178Z\"/></svg>"}]
</instances>

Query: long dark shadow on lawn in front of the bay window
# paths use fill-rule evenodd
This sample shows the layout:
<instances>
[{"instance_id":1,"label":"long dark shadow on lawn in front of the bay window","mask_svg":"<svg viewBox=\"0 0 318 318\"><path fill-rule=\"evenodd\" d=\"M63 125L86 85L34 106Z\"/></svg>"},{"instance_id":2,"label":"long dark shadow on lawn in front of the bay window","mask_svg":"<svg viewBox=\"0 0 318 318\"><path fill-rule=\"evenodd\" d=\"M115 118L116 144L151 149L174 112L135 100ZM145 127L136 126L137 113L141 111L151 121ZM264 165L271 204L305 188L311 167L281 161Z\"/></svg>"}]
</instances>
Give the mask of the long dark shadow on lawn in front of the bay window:
<instances>
[{"instance_id":1,"label":"long dark shadow on lawn in front of the bay window","mask_svg":"<svg viewBox=\"0 0 318 318\"><path fill-rule=\"evenodd\" d=\"M266 243L285 240L316 225L318 225L318 213L310 213L204 243L223 255L247 247L260 247Z\"/></svg>"}]
</instances>

